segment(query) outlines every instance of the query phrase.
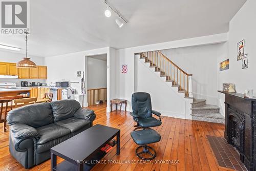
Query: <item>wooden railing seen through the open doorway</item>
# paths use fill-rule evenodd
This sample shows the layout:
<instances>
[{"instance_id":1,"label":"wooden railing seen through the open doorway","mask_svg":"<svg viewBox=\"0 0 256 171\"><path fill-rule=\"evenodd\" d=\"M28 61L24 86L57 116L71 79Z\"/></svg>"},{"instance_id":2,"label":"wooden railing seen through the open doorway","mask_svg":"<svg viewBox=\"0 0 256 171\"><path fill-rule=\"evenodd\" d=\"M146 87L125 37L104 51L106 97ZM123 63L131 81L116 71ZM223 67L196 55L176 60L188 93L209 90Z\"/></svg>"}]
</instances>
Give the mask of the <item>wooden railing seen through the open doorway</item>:
<instances>
[{"instance_id":1,"label":"wooden railing seen through the open doorway","mask_svg":"<svg viewBox=\"0 0 256 171\"><path fill-rule=\"evenodd\" d=\"M87 90L88 105L95 105L96 101L106 101L106 88Z\"/></svg>"}]
</instances>

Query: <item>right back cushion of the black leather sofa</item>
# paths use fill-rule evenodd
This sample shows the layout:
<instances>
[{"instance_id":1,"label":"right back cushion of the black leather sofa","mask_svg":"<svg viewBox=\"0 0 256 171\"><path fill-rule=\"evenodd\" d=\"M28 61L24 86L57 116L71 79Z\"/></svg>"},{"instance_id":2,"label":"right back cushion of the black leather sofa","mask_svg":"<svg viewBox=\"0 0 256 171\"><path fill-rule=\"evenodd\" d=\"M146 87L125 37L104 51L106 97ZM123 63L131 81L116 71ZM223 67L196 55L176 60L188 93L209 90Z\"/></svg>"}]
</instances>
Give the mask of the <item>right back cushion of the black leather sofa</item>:
<instances>
[{"instance_id":1,"label":"right back cushion of the black leather sofa","mask_svg":"<svg viewBox=\"0 0 256 171\"><path fill-rule=\"evenodd\" d=\"M54 122L73 117L75 112L81 108L80 103L76 100L58 100L50 104Z\"/></svg>"}]
</instances>

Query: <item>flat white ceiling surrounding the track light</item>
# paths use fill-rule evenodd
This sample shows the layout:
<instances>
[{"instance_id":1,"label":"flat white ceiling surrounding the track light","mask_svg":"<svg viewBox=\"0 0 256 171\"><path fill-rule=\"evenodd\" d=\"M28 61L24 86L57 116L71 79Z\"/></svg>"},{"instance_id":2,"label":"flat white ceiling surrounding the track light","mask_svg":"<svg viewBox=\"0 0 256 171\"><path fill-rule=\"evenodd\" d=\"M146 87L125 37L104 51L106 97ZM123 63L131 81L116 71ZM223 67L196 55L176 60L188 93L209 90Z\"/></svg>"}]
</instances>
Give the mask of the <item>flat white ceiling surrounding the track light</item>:
<instances>
[{"instance_id":1,"label":"flat white ceiling surrounding the track light","mask_svg":"<svg viewBox=\"0 0 256 171\"><path fill-rule=\"evenodd\" d=\"M104 16L103 0L33 0L28 52L34 56L113 47L116 49L228 32L229 21L246 0L110 0L117 15ZM24 36L0 42L25 48ZM24 53L22 50L21 53Z\"/></svg>"}]
</instances>

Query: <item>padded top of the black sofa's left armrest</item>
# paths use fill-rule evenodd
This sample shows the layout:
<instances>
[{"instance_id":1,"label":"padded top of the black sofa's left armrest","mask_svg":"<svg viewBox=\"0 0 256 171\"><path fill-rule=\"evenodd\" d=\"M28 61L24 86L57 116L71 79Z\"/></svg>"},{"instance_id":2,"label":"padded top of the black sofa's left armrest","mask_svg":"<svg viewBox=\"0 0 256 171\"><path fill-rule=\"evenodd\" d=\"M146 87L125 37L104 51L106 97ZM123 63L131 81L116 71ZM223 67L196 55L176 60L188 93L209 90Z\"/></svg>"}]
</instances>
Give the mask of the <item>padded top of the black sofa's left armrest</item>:
<instances>
[{"instance_id":1,"label":"padded top of the black sofa's left armrest","mask_svg":"<svg viewBox=\"0 0 256 171\"><path fill-rule=\"evenodd\" d=\"M34 127L26 125L25 123L15 123L13 125L10 125L10 128L10 131L12 132L14 138L24 139L40 136Z\"/></svg>"}]
</instances>

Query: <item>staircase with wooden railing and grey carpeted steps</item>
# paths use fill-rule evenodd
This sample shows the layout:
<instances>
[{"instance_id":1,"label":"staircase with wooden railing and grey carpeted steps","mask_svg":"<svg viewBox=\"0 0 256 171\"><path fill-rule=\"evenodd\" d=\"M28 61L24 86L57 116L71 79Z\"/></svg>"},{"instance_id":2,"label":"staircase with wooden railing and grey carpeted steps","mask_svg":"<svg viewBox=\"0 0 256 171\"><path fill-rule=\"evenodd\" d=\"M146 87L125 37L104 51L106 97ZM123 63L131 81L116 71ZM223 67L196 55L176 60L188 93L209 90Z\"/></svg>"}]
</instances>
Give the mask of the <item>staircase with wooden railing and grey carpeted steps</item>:
<instances>
[{"instance_id":1,"label":"staircase with wooden railing and grey carpeted steps","mask_svg":"<svg viewBox=\"0 0 256 171\"><path fill-rule=\"evenodd\" d=\"M170 82L173 88L178 89L178 93L184 94L185 98L193 99L191 102L191 119L224 123L224 117L219 113L219 106L206 104L205 99L195 99L192 93L192 74L187 74L173 61L164 56L160 51L150 51L139 53L140 59L150 64L150 68L155 68L155 72L160 73L166 82Z\"/></svg>"}]
</instances>

